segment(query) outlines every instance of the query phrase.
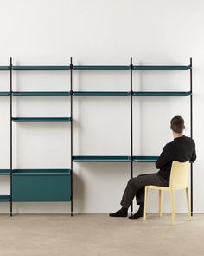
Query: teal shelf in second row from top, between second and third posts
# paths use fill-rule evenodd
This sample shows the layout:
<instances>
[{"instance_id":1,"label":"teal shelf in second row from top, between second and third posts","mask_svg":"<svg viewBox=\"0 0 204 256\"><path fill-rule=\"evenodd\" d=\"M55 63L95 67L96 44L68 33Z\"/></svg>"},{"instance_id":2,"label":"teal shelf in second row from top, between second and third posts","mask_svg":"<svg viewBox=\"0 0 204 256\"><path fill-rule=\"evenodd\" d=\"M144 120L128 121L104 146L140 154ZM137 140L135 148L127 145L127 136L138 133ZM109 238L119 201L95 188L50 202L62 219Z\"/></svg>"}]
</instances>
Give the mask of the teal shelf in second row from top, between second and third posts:
<instances>
[{"instance_id":1,"label":"teal shelf in second row from top, between second and third posts","mask_svg":"<svg viewBox=\"0 0 204 256\"><path fill-rule=\"evenodd\" d=\"M130 92L124 91L73 91L73 96L129 96Z\"/></svg>"}]
</instances>

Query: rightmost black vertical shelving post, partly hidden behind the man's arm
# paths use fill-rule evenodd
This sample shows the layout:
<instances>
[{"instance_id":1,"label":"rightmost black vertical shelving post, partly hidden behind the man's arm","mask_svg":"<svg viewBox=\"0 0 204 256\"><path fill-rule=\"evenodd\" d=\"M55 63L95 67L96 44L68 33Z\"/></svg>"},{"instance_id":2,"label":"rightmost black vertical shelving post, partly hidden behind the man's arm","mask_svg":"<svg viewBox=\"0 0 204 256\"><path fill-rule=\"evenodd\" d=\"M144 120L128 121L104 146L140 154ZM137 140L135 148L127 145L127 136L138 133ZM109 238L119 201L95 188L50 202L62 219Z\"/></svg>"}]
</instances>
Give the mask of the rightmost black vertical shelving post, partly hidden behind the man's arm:
<instances>
[{"instance_id":1,"label":"rightmost black vertical shelving post, partly hidden behind the man's arm","mask_svg":"<svg viewBox=\"0 0 204 256\"><path fill-rule=\"evenodd\" d=\"M192 58L190 58L190 136L193 138L193 75ZM191 216L193 216L193 163L190 164L190 197L191 197Z\"/></svg>"}]
</instances>

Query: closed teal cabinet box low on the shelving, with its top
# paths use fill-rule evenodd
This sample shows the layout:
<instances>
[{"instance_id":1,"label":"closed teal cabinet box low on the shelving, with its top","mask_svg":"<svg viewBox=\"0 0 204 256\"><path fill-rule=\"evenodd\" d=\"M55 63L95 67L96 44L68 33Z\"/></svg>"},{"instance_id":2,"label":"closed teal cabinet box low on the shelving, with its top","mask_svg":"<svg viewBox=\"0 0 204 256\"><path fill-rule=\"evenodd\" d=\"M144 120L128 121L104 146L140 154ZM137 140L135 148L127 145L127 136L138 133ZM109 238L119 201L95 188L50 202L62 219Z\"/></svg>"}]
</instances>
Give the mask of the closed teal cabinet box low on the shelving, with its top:
<instances>
[{"instance_id":1,"label":"closed teal cabinet box low on the shelving, with its top","mask_svg":"<svg viewBox=\"0 0 204 256\"><path fill-rule=\"evenodd\" d=\"M20 169L12 174L13 201L70 201L69 169Z\"/></svg>"}]
</instances>

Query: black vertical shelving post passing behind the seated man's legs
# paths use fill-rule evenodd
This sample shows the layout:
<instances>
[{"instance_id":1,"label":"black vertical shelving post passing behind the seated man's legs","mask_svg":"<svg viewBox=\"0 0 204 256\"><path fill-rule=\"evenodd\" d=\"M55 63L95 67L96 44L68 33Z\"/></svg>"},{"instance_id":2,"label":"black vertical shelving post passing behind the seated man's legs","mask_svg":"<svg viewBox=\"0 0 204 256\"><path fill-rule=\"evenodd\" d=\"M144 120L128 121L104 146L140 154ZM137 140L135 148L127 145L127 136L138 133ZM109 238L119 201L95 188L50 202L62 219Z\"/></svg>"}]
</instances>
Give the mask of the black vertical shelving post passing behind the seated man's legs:
<instances>
[{"instance_id":1,"label":"black vertical shelving post passing behind the seated man's legs","mask_svg":"<svg viewBox=\"0 0 204 256\"><path fill-rule=\"evenodd\" d=\"M131 178L133 178L132 70L133 70L133 65L132 65L132 58L131 58ZM131 214L132 212L133 212L133 203L131 203Z\"/></svg>"}]
</instances>

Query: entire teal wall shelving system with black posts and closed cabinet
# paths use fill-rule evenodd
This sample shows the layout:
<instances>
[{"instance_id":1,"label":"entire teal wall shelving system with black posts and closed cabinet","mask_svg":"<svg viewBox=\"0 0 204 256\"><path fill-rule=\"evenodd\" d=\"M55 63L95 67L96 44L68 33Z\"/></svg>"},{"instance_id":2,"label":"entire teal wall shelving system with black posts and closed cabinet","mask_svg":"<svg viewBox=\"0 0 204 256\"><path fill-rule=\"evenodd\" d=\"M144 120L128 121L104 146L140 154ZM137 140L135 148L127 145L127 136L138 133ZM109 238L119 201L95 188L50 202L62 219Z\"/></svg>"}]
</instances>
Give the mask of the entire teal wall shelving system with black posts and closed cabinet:
<instances>
[{"instance_id":1,"label":"entire teal wall shelving system with black posts and closed cabinet","mask_svg":"<svg viewBox=\"0 0 204 256\"><path fill-rule=\"evenodd\" d=\"M193 136L193 82L192 82L192 58L189 65L181 66L141 66L133 65L132 58L130 65L126 66L99 66L99 65L73 65L72 58L67 66L13 66L10 58L9 66L0 66L0 70L10 71L10 91L0 92L1 96L10 96L10 169L0 170L1 175L10 175L10 195L1 195L0 201L10 201L10 215L12 216L12 202L17 201L70 201L71 215L73 215L73 161L74 162L126 162L130 163L131 178L133 177L134 162L155 162L158 156L134 155L133 154L133 97L141 96L190 96L190 131ZM56 92L26 92L12 90L13 70L65 70L70 72L70 90ZM74 70L129 70L130 90L127 91L74 91L73 72ZM190 89L188 91L133 91L133 72L145 70L190 70ZM14 117L12 115L12 99L14 96L68 96L70 97L69 117ZM130 97L130 155L73 155L73 97L75 96L126 96ZM71 167L67 169L13 169L12 164L12 123L13 122L70 122L71 125ZM193 165L191 163L191 213L193 213ZM35 181L35 182L33 182ZM35 186L33 185L35 184ZM37 186L36 186L37 184ZM46 184L46 187L45 187ZM46 188L46 189L45 189ZM131 206L132 211L132 206Z\"/></svg>"}]
</instances>

